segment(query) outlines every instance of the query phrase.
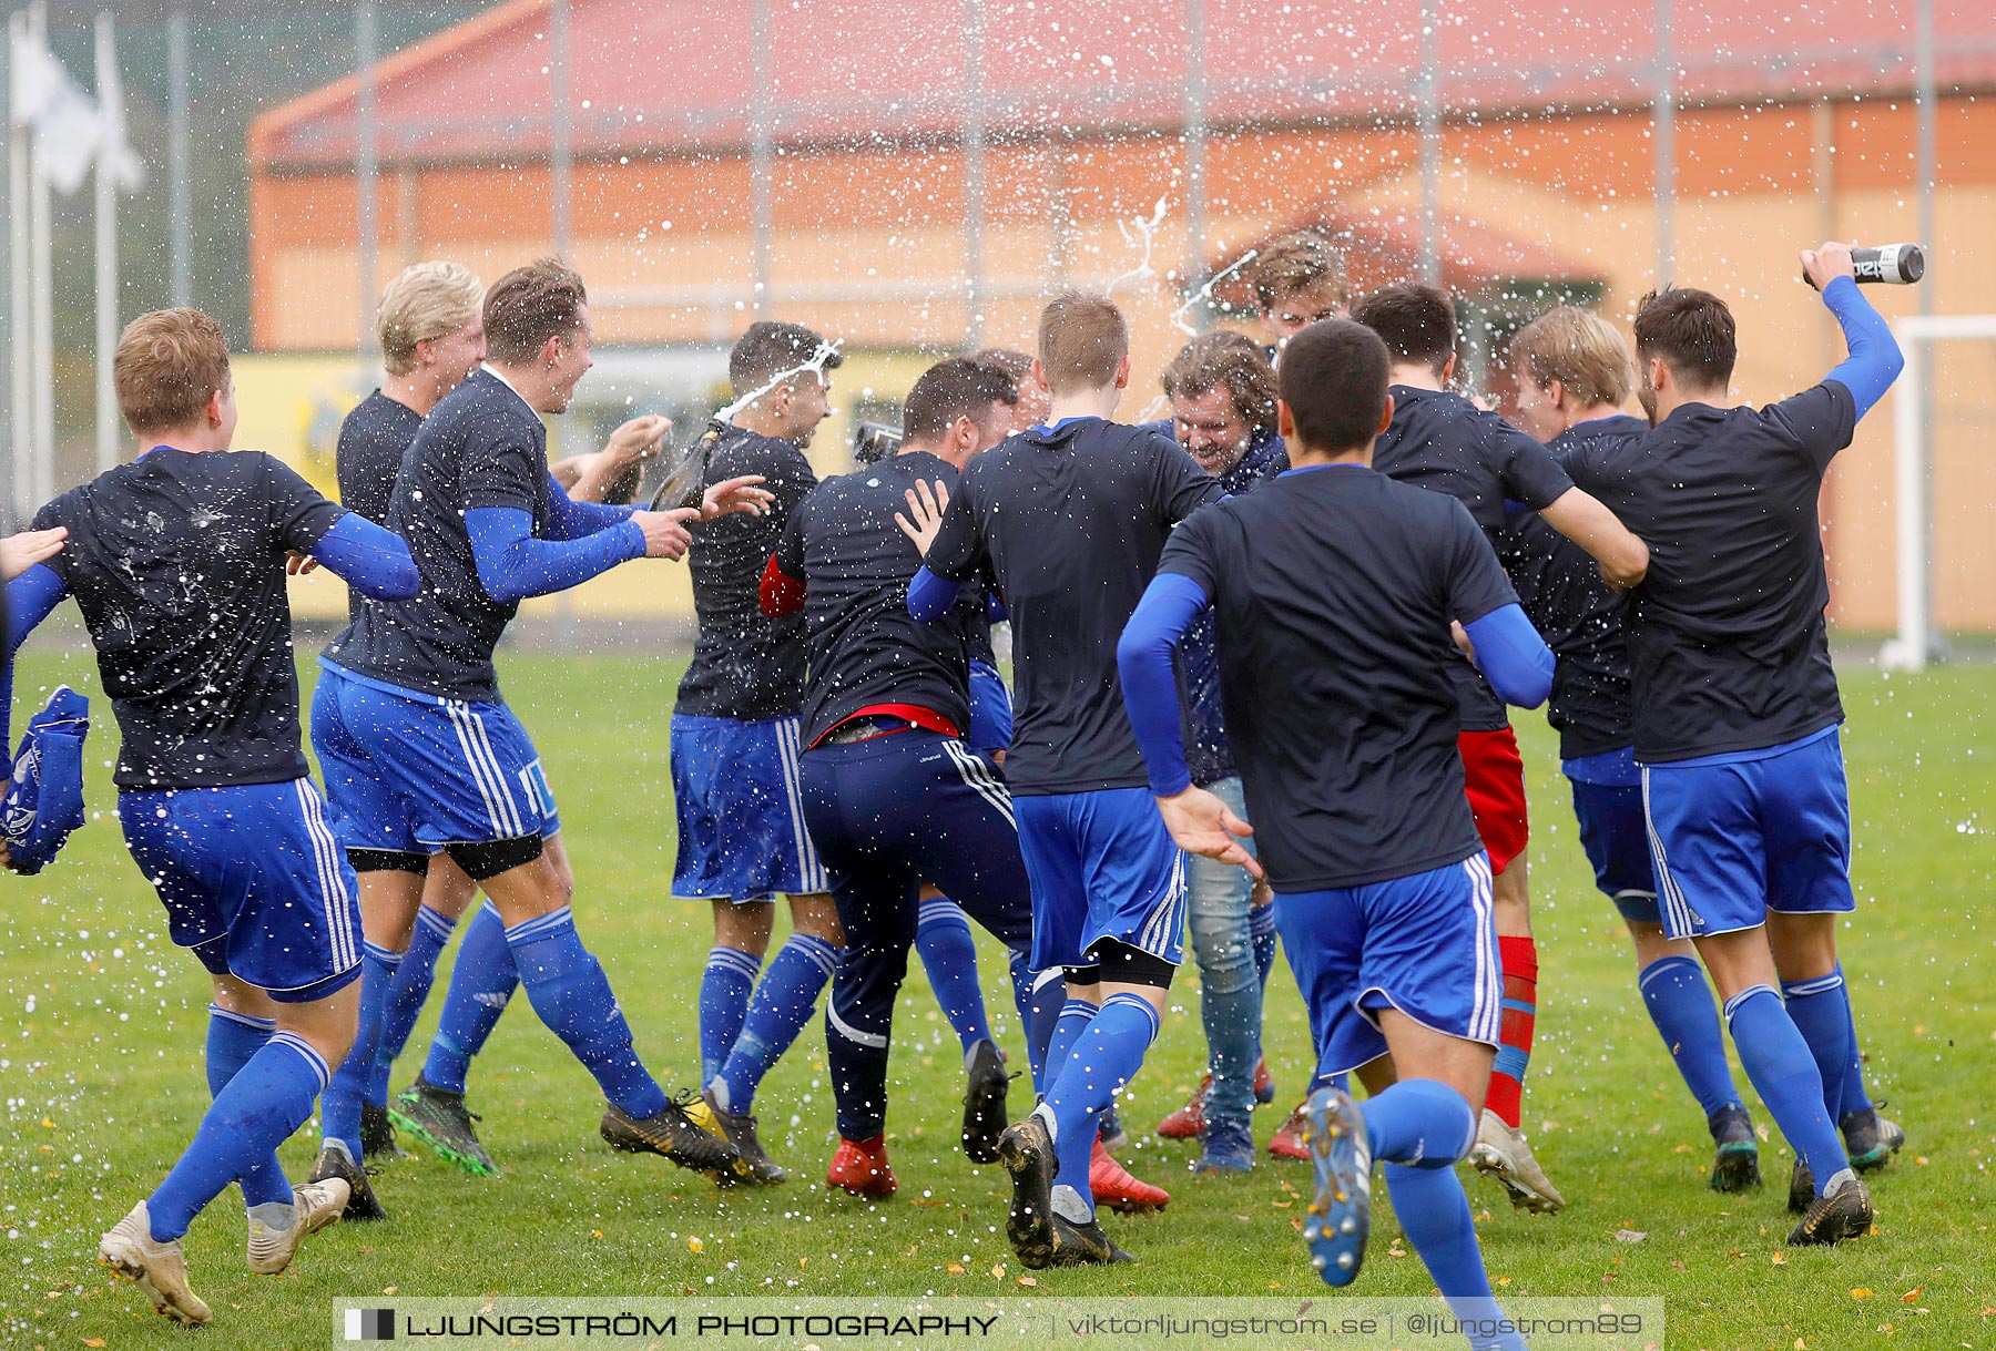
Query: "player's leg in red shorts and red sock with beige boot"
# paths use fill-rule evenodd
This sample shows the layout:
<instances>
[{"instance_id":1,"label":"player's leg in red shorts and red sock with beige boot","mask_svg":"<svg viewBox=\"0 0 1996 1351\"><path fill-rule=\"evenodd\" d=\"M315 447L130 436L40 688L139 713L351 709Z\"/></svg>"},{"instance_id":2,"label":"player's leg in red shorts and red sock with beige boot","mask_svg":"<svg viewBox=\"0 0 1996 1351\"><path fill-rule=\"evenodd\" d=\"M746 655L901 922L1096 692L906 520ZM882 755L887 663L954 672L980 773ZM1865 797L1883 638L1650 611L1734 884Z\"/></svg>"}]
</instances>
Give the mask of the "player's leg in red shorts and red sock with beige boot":
<instances>
[{"instance_id":1,"label":"player's leg in red shorts and red sock with beige boot","mask_svg":"<svg viewBox=\"0 0 1996 1351\"><path fill-rule=\"evenodd\" d=\"M1539 1016L1539 948L1531 938L1531 896L1525 880L1525 846L1531 822L1525 808L1525 762L1517 732L1461 732L1463 784L1477 834L1489 852L1497 908L1497 958L1503 964L1503 1044L1491 1070L1489 1102L1477 1120L1473 1161L1503 1183L1511 1203L1551 1215L1565 1205L1523 1131L1525 1068Z\"/></svg>"}]
</instances>

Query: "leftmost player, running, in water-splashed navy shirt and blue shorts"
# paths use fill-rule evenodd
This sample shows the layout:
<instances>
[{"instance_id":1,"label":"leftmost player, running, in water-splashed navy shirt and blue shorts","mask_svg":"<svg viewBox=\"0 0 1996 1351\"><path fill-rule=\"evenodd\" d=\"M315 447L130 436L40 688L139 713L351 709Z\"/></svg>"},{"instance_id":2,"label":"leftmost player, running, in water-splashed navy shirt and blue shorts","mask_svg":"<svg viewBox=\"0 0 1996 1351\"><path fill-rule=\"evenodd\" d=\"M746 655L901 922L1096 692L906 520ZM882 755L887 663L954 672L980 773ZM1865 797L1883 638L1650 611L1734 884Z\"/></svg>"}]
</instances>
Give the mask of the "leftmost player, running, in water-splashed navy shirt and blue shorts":
<instances>
[{"instance_id":1,"label":"leftmost player, running, in water-splashed navy shirt and blue shorts","mask_svg":"<svg viewBox=\"0 0 1996 1351\"><path fill-rule=\"evenodd\" d=\"M0 746L18 639L76 597L124 736L126 844L216 990L214 1104L98 1251L160 1313L208 1323L180 1237L224 1187L242 1183L257 1273L283 1271L347 1203L345 1181L291 1187L277 1163L353 1040L361 974L353 872L299 746L285 571L317 559L381 601L413 597L417 571L401 539L269 455L230 453L230 349L206 313L134 319L112 379L140 455L36 513L36 531L66 537L8 583Z\"/></svg>"}]
</instances>

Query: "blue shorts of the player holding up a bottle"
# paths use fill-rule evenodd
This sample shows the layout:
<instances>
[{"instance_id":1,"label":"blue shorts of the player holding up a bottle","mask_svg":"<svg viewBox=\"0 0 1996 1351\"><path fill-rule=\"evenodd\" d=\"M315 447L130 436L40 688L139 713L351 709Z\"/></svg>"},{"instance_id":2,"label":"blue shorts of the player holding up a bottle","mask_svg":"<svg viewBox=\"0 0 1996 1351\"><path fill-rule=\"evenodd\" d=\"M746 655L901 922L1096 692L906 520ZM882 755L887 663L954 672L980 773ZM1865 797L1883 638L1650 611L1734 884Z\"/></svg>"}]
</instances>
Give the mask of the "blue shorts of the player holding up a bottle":
<instances>
[{"instance_id":1,"label":"blue shorts of the player holding up a bottle","mask_svg":"<svg viewBox=\"0 0 1996 1351\"><path fill-rule=\"evenodd\" d=\"M1754 760L1645 764L1643 808L1671 938L1856 910L1836 728Z\"/></svg>"}]
</instances>

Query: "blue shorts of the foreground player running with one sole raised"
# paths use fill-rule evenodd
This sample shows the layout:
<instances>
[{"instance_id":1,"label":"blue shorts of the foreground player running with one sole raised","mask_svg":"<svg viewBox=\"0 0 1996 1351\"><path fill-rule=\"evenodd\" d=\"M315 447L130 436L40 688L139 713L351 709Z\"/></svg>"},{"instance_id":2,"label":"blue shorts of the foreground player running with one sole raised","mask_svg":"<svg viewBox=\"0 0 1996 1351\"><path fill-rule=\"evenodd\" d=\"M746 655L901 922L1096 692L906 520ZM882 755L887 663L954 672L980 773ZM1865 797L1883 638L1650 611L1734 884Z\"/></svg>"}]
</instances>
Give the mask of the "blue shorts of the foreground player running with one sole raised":
<instances>
[{"instance_id":1,"label":"blue shorts of the foreground player running with one sole raised","mask_svg":"<svg viewBox=\"0 0 1996 1351\"><path fill-rule=\"evenodd\" d=\"M1385 1056L1381 1008L1497 1046L1503 968L1483 850L1391 882L1275 892L1275 930L1309 1006L1321 1074Z\"/></svg>"}]
</instances>

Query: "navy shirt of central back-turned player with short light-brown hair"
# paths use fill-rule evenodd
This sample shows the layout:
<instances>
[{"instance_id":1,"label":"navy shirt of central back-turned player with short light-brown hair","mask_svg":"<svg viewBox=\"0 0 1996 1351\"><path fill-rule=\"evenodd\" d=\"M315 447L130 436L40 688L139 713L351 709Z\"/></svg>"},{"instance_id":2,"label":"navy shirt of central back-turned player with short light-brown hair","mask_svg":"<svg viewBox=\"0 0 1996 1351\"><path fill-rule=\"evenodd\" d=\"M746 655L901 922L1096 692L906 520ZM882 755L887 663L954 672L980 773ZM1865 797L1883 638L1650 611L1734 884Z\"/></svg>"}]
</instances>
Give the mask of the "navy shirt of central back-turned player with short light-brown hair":
<instances>
[{"instance_id":1,"label":"navy shirt of central back-turned player with short light-brown hair","mask_svg":"<svg viewBox=\"0 0 1996 1351\"><path fill-rule=\"evenodd\" d=\"M1012 617L1016 794L1142 788L1116 641L1158 571L1166 535L1222 495L1178 441L1068 419L970 461L928 571L996 583Z\"/></svg>"}]
</instances>

